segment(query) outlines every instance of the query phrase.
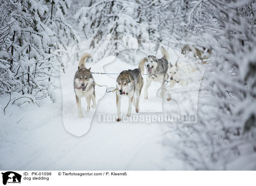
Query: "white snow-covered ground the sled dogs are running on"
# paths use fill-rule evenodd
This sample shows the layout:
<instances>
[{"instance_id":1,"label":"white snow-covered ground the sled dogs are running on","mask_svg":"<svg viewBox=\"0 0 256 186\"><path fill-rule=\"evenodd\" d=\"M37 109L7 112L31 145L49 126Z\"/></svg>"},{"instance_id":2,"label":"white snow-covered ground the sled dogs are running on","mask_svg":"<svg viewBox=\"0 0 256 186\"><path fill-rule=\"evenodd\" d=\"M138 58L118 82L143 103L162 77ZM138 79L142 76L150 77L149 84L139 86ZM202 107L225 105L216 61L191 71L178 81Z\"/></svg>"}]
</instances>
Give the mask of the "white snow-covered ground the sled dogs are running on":
<instances>
[{"instance_id":1,"label":"white snow-covered ground the sled dogs are running on","mask_svg":"<svg viewBox=\"0 0 256 186\"><path fill-rule=\"evenodd\" d=\"M174 56L171 61L176 61ZM160 57L160 56L159 56ZM109 56L97 63L87 63L92 72L120 73L137 68L119 58ZM178 160L166 145L179 137L170 131L175 122L102 122L99 114L116 115L115 93L105 93L105 87L96 86L97 108L86 112L83 100L83 118L78 118L73 76L77 64L70 65L55 84L56 102L44 99L36 105L9 105L6 115L0 113L0 169L2 170L183 170L190 169ZM199 77L198 74L195 73ZM93 74L96 83L115 88L117 75ZM143 76L145 81L146 78ZM196 78L195 78L196 79ZM199 82L199 81L198 81ZM189 86L194 90L198 82ZM140 113L133 115L180 114L180 103L197 97L196 91L180 93L175 85L171 101L158 97L160 84L152 83L145 100L144 88L140 99ZM175 91L177 92L175 93ZM62 99L63 98L63 99ZM8 96L0 99L6 105ZM196 99L197 101L197 99ZM197 105L197 104L196 104ZM128 99L123 98L121 112L126 114ZM180 125L180 124L178 124ZM166 134L168 135L166 136ZM168 138L168 140L166 140ZM180 147L182 148L182 147ZM253 154L248 156L253 159ZM227 169L241 169L243 157L230 163ZM237 168L238 167L238 168ZM218 168L217 168L218 169ZM244 169L254 169L247 165Z\"/></svg>"}]
</instances>

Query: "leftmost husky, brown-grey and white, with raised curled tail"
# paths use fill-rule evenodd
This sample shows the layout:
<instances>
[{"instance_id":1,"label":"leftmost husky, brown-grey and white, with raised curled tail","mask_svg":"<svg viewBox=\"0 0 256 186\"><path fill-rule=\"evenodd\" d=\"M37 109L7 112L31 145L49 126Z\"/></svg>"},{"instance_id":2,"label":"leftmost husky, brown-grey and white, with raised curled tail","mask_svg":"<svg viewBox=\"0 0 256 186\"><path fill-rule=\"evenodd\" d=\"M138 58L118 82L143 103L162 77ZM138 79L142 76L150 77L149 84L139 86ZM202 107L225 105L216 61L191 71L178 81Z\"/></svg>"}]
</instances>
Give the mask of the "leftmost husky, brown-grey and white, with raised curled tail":
<instances>
[{"instance_id":1,"label":"leftmost husky, brown-grey and white, with raised curled tail","mask_svg":"<svg viewBox=\"0 0 256 186\"><path fill-rule=\"evenodd\" d=\"M74 90L76 93L76 104L79 118L83 117L81 110L81 98L85 97L87 102L87 112L90 111L90 101L93 100L92 108L96 108L95 81L90 69L85 67L85 60L90 58L90 54L84 53L79 60L78 70L74 76Z\"/></svg>"}]
</instances>

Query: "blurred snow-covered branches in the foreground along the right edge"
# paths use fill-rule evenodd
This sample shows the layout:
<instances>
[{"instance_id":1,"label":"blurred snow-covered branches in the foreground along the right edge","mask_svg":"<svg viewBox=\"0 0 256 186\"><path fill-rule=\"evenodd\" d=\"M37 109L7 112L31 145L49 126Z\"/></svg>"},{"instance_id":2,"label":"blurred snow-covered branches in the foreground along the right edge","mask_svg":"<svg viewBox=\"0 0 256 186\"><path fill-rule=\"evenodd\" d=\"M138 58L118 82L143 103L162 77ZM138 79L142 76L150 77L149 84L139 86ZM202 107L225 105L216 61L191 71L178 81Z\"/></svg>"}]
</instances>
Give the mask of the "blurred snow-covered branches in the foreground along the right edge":
<instances>
[{"instance_id":1,"label":"blurred snow-covered branches in the foreground along the right edge","mask_svg":"<svg viewBox=\"0 0 256 186\"><path fill-rule=\"evenodd\" d=\"M256 4L198 0L191 5L187 42L214 53L201 86L198 124L176 125L180 139L169 144L190 169L225 170L233 161L242 166L244 156L255 157L256 151Z\"/></svg>"}]
</instances>

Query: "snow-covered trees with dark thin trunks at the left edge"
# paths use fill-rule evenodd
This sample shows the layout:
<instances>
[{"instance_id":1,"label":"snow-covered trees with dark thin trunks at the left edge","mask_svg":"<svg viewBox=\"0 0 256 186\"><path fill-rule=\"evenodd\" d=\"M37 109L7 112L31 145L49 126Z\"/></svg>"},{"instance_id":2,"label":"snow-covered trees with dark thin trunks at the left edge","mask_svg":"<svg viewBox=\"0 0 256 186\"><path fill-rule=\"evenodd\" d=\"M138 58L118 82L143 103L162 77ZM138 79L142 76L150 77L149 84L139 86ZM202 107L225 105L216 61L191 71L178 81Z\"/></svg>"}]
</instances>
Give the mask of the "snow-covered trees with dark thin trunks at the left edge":
<instances>
[{"instance_id":1,"label":"snow-covered trees with dark thin trunks at the left edge","mask_svg":"<svg viewBox=\"0 0 256 186\"><path fill-rule=\"evenodd\" d=\"M61 64L56 49L61 49L62 38L69 37L67 33L74 38L71 27L63 20L67 1L0 3L0 93L9 93L8 104L35 103L47 96L54 101L51 77L58 76ZM52 8L49 12L48 6L57 10Z\"/></svg>"}]
</instances>

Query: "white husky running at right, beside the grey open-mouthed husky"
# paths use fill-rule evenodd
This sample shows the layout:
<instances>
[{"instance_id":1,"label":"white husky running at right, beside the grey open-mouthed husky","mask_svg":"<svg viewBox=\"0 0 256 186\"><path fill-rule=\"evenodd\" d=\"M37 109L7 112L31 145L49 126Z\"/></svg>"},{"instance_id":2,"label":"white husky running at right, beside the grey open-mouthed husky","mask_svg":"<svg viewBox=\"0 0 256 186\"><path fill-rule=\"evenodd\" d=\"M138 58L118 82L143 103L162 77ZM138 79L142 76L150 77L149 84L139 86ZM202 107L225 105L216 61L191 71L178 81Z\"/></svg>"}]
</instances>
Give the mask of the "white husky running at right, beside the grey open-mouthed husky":
<instances>
[{"instance_id":1,"label":"white husky running at right, beside the grey open-mouthed husky","mask_svg":"<svg viewBox=\"0 0 256 186\"><path fill-rule=\"evenodd\" d=\"M180 84L183 88L186 87L191 81L190 75L196 71L195 68L191 67L186 62L176 62L175 65L171 63L168 64L168 69L164 76L164 81L161 86L161 98L164 97L164 90L166 85L169 83L169 90L175 86L175 84ZM167 101L171 100L171 96L168 91Z\"/></svg>"}]
</instances>

